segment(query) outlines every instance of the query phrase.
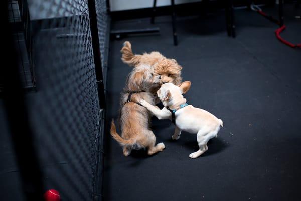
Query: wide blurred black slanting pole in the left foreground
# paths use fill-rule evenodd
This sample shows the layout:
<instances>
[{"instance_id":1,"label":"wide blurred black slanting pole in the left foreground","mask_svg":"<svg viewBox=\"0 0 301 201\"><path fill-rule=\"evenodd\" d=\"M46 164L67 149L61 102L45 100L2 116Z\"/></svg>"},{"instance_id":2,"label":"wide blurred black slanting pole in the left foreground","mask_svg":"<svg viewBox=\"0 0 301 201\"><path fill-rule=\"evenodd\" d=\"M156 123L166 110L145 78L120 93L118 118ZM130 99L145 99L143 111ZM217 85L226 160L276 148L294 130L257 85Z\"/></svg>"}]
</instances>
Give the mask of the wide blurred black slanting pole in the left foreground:
<instances>
[{"instance_id":1,"label":"wide blurred black slanting pole in the left foreground","mask_svg":"<svg viewBox=\"0 0 301 201\"><path fill-rule=\"evenodd\" d=\"M8 1L1 1L0 9L2 15L0 20L3 21L1 24L4 26L1 37L3 62L10 64L0 69L0 78L4 83L3 99L9 120L11 139L25 198L27 200L43 200L42 173L21 86L17 51L8 19Z\"/></svg>"}]
</instances>

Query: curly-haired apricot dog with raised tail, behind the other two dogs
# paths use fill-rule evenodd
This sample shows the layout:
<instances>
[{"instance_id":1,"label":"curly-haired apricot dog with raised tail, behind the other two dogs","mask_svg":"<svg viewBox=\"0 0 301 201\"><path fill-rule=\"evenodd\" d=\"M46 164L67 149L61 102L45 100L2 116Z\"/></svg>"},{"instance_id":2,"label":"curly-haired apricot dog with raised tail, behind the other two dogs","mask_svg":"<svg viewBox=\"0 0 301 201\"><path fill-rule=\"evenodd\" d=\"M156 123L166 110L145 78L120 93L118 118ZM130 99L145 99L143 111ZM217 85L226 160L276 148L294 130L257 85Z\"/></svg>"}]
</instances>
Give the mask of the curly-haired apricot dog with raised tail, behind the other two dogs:
<instances>
[{"instance_id":1,"label":"curly-haired apricot dog with raised tail, behind the other two dogs","mask_svg":"<svg viewBox=\"0 0 301 201\"><path fill-rule=\"evenodd\" d=\"M121 53L122 61L130 66L135 67L139 64L144 64L153 67L154 72L161 75L161 84L170 82L179 85L181 83L182 67L175 59L168 59L159 52L144 53L142 55L133 54L131 44L128 41L124 42Z\"/></svg>"}]
</instances>

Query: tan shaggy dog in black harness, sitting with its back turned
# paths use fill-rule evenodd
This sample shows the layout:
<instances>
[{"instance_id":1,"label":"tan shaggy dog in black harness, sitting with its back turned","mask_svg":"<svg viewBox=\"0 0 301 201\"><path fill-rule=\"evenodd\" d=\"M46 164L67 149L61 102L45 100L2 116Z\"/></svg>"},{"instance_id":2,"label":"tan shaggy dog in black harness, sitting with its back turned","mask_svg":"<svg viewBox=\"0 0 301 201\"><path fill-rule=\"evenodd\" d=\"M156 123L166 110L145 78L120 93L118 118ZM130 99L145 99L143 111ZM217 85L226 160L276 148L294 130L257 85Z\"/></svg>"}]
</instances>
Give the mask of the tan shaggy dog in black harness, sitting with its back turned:
<instances>
[{"instance_id":1,"label":"tan shaggy dog in black harness, sitting with its back turned","mask_svg":"<svg viewBox=\"0 0 301 201\"><path fill-rule=\"evenodd\" d=\"M114 121L110 130L112 137L123 146L124 156L128 156L132 149L147 148L148 155L152 155L165 148L163 143L155 146L156 136L149 128L150 113L139 104L141 99L155 104L150 91L159 86L160 78L153 68L143 64L137 65L127 78L121 95L121 136L116 132Z\"/></svg>"}]
</instances>

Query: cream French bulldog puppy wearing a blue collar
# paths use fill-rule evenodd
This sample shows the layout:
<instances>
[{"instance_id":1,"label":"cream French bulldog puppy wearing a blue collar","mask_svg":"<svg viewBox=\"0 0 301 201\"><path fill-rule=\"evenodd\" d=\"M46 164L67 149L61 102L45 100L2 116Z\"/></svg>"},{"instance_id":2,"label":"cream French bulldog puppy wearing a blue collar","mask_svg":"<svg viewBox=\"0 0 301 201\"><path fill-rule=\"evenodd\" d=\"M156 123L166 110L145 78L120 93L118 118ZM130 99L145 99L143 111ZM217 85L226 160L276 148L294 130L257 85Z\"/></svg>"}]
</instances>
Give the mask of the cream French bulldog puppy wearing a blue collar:
<instances>
[{"instance_id":1,"label":"cream French bulldog puppy wearing a blue collar","mask_svg":"<svg viewBox=\"0 0 301 201\"><path fill-rule=\"evenodd\" d=\"M221 126L223 127L223 121L206 110L195 108L186 103L186 99L182 94L186 93L190 86L190 81L185 81L178 86L172 83L163 84L157 91L159 99L165 106L162 110L143 99L140 101L140 104L158 119L175 120L176 130L172 139L178 140L182 130L189 133L197 133L200 149L189 155L190 158L197 158L208 150L208 140L217 137Z\"/></svg>"}]
</instances>

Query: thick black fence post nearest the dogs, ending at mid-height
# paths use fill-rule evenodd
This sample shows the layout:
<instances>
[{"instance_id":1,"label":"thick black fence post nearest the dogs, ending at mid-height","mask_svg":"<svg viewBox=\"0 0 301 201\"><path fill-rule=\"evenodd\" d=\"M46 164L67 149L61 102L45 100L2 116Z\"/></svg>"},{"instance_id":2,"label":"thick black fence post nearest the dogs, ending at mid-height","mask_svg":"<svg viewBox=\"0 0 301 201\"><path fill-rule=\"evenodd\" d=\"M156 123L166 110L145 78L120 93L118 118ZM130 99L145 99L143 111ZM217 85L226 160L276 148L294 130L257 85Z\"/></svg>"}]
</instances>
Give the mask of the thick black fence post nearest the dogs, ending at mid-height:
<instances>
[{"instance_id":1,"label":"thick black fence post nearest the dogs, ending at mid-height","mask_svg":"<svg viewBox=\"0 0 301 201\"><path fill-rule=\"evenodd\" d=\"M104 83L103 83L103 75L102 75L100 46L99 46L99 38L98 38L95 0L88 0L88 9L89 9L90 30L91 30L91 38L92 38L94 64L95 64L95 74L97 80L98 99L99 99L100 108L104 109L106 108L106 103L105 103Z\"/></svg>"}]
</instances>

